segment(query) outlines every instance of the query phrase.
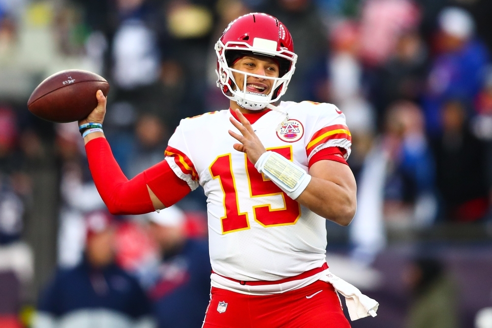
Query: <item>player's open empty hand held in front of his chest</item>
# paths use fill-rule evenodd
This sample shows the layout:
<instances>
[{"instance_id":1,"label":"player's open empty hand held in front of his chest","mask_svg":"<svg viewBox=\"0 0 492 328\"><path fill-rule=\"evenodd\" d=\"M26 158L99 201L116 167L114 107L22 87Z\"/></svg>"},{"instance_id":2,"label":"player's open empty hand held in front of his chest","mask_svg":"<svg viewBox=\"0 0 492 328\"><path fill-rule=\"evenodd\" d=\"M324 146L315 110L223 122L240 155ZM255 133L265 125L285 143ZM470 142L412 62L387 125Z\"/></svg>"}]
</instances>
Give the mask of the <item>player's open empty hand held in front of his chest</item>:
<instances>
[{"instance_id":1,"label":"player's open empty hand held in front of his chest","mask_svg":"<svg viewBox=\"0 0 492 328\"><path fill-rule=\"evenodd\" d=\"M249 121L246 119L243 113L239 111L239 109L236 109L236 115L239 118L239 122L234 117L231 117L230 120L231 123L241 132L242 135L229 130L229 134L237 139L239 142L241 142L235 143L233 147L237 151L246 153L249 161L253 164L256 164L260 156L267 150L261 143L256 133L254 133L254 130L251 127Z\"/></svg>"}]
</instances>

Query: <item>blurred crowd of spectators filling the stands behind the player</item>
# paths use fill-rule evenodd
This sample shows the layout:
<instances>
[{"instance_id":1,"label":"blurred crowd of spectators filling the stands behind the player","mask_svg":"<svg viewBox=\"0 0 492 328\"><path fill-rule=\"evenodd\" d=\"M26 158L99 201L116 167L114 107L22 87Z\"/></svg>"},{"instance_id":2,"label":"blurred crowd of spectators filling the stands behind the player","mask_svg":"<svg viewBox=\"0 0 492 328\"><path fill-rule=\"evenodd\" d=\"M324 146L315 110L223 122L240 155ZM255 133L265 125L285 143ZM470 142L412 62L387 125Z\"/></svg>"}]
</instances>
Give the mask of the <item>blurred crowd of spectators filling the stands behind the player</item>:
<instances>
[{"instance_id":1,"label":"blurred crowd of spectators filling the stands behind the player","mask_svg":"<svg viewBox=\"0 0 492 328\"><path fill-rule=\"evenodd\" d=\"M44 122L26 103L62 69L107 78L104 131L131 178L163 159L182 118L228 108L213 45L252 11L276 16L292 33L299 59L282 100L334 103L352 133L358 210L348 229L327 223L329 239L370 265L392 236L449 226L490 237L491 1L0 0L0 327L203 320L203 191L154 217L111 217L77 124ZM73 286L75 279L85 280ZM63 300L84 284L92 295ZM97 306L109 312L82 311L56 326L75 308ZM484 311L490 323L492 310Z\"/></svg>"}]
</instances>

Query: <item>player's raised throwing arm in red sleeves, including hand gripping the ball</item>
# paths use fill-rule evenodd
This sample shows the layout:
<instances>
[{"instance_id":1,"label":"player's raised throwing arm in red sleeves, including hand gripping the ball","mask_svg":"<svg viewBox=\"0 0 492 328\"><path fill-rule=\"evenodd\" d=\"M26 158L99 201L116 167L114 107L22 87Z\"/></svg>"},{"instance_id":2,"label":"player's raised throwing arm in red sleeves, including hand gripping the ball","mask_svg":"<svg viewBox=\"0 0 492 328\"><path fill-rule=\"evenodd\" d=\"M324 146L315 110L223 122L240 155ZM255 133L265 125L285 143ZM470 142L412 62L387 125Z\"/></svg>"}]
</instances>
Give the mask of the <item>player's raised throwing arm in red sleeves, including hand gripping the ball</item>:
<instances>
[{"instance_id":1,"label":"player's raised throwing arm in red sleeves, including hand gripping the ball","mask_svg":"<svg viewBox=\"0 0 492 328\"><path fill-rule=\"evenodd\" d=\"M106 97L96 94L98 105L82 121L103 123ZM103 132L92 132L84 137L87 159L94 184L112 214L144 214L171 206L186 196L191 189L180 179L167 161L162 161L128 180L116 162Z\"/></svg>"}]
</instances>

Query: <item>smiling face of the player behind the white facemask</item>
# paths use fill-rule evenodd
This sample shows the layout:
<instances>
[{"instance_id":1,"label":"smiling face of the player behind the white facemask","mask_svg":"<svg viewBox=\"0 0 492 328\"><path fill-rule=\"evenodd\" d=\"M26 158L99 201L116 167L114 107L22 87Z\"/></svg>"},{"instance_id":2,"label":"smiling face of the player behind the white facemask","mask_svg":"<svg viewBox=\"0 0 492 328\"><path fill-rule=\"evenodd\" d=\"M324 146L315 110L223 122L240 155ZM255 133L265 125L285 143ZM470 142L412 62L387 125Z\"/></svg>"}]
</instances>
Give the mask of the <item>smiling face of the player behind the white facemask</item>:
<instances>
[{"instance_id":1,"label":"smiling face of the player behind the white facemask","mask_svg":"<svg viewBox=\"0 0 492 328\"><path fill-rule=\"evenodd\" d=\"M238 60L232 68L244 71L250 74L263 75L267 77L278 77L278 64L269 57L248 55ZM245 75L232 72L236 80L237 87L243 90ZM257 94L268 95L272 90L274 80L259 78L247 75L246 91Z\"/></svg>"}]
</instances>

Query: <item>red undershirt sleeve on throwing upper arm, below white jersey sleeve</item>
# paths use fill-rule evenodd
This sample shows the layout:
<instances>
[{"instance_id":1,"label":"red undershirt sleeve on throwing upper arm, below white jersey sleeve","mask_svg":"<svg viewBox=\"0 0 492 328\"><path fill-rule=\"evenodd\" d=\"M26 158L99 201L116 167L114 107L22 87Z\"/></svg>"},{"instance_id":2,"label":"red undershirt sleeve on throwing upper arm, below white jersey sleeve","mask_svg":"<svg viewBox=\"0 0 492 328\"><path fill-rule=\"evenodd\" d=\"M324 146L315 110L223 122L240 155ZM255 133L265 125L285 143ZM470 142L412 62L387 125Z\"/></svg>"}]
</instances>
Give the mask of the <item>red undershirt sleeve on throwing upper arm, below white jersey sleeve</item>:
<instances>
[{"instance_id":1,"label":"red undershirt sleeve on throwing upper arm, below white jersey sleeve","mask_svg":"<svg viewBox=\"0 0 492 328\"><path fill-rule=\"evenodd\" d=\"M166 207L177 203L191 191L186 181L178 178L166 161L146 169L144 176L147 186Z\"/></svg>"}]
</instances>

